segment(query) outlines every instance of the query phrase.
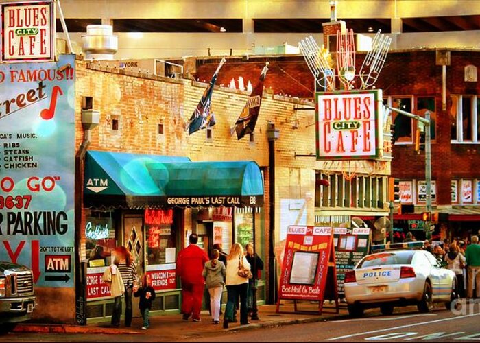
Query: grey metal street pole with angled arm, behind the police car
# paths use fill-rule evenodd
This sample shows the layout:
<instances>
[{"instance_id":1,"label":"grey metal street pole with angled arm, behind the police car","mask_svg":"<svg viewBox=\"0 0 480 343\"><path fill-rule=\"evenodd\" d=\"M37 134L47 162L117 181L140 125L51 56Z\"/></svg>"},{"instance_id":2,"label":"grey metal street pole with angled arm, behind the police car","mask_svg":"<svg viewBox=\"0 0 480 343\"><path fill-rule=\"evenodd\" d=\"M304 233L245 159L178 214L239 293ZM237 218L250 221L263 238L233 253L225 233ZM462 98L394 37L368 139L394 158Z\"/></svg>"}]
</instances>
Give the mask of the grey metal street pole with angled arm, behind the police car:
<instances>
[{"instance_id":1,"label":"grey metal street pole with angled arm, behind the police car","mask_svg":"<svg viewBox=\"0 0 480 343\"><path fill-rule=\"evenodd\" d=\"M432 169L431 169L431 133L430 133L430 111L425 111L425 117L420 117L419 115L413 115L405 110L400 110L399 108L394 108L390 106L385 106L389 110L393 110L400 115L405 115L407 117L413 118L420 123L423 123L425 126L425 204L427 212L432 212L432 197L431 197L431 179L432 179ZM427 239L431 239L430 232L430 222L427 222L427 227L425 228L425 233L427 234ZM393 222L392 222L393 226Z\"/></svg>"}]
</instances>

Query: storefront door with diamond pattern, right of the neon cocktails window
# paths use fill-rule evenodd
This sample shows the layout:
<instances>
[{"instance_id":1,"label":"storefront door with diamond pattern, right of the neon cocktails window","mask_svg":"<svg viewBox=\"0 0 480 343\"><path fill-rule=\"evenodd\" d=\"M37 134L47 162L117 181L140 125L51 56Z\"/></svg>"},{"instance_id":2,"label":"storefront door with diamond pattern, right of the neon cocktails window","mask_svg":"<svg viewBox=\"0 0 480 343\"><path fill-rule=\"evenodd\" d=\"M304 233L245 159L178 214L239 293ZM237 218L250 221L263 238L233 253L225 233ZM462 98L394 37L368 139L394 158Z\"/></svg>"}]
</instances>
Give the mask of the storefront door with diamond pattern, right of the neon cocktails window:
<instances>
[{"instance_id":1,"label":"storefront door with diamond pattern, right of the neon cocktails window","mask_svg":"<svg viewBox=\"0 0 480 343\"><path fill-rule=\"evenodd\" d=\"M143 276L143 215L125 215L123 217L124 241L127 249L132 253L136 265L136 274ZM139 298L133 298L133 316L141 316Z\"/></svg>"}]
</instances>

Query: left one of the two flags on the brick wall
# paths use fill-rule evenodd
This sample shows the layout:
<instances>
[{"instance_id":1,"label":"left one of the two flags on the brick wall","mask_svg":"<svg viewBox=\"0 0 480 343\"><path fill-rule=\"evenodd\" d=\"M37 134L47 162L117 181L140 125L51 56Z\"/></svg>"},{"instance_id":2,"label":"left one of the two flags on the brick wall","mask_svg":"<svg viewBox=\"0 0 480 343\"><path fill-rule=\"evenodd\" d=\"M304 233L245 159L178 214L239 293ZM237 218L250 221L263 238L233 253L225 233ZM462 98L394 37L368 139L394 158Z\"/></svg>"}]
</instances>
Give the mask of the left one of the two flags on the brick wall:
<instances>
[{"instance_id":1,"label":"left one of the two flags on the brick wall","mask_svg":"<svg viewBox=\"0 0 480 343\"><path fill-rule=\"evenodd\" d=\"M200 99L197 108L195 108L193 111L193 115L191 115L190 120L185 127L185 130L189 130L189 135L193 134L193 132L197 132L200 129L211 128L215 125L215 117L211 109L213 86L215 86L218 72L225 61L225 58L222 58L217 70L212 76L212 80L210 80L208 87L205 89L204 94L202 95L202 99Z\"/></svg>"}]
</instances>

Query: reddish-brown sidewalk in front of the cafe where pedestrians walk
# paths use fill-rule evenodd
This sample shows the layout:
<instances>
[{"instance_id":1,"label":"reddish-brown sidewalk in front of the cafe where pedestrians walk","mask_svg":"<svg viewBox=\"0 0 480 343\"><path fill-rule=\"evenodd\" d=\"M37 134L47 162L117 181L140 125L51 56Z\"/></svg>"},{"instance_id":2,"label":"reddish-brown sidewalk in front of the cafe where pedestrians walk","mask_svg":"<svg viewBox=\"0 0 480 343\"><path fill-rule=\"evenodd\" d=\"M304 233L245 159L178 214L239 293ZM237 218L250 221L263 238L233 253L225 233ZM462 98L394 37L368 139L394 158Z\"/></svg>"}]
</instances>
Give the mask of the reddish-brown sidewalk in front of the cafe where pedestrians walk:
<instances>
[{"instance_id":1,"label":"reddish-brown sidewalk in front of the cafe where pedestrians walk","mask_svg":"<svg viewBox=\"0 0 480 343\"><path fill-rule=\"evenodd\" d=\"M150 327L142 330L142 319L134 318L132 327L110 327L108 322L87 324L86 326L70 324L19 324L14 332L29 333L94 333L112 335L151 335L163 342L186 340L187 338L205 337L221 332L249 330L261 327L278 327L289 324L307 322L321 322L333 318L344 317L347 314L346 307L341 306L339 314L335 314L334 305L325 304L322 314L318 314L318 303L302 302L298 309L309 312L293 312L293 302L283 300L280 305L280 313L276 313L276 305L259 306L260 320L250 320L251 324L240 325L239 322L230 323L228 329L223 329L220 324L212 324L212 318L208 311L202 311L202 321L192 322L182 320L181 314L169 314L165 316L150 316ZM316 312L315 312L316 311ZM123 323L123 316L122 316Z\"/></svg>"}]
</instances>

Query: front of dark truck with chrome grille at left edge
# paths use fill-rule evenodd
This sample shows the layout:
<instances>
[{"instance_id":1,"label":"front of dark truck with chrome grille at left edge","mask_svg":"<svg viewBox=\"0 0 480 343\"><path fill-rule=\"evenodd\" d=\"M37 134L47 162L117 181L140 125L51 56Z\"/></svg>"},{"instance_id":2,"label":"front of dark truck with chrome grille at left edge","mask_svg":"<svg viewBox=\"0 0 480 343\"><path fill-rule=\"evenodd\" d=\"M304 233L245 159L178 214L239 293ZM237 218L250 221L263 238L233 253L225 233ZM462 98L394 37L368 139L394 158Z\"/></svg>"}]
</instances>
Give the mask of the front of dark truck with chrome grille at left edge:
<instances>
[{"instance_id":1,"label":"front of dark truck with chrome grille at left edge","mask_svg":"<svg viewBox=\"0 0 480 343\"><path fill-rule=\"evenodd\" d=\"M0 327L8 331L29 320L36 305L34 274L16 263L0 261Z\"/></svg>"}]
</instances>

